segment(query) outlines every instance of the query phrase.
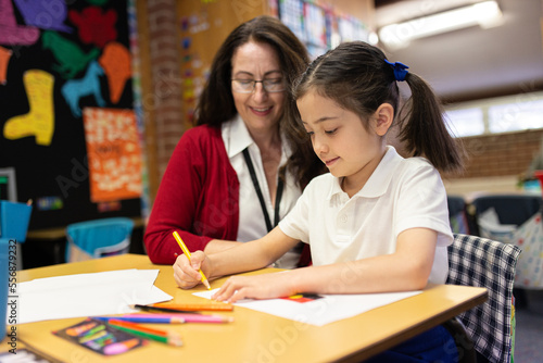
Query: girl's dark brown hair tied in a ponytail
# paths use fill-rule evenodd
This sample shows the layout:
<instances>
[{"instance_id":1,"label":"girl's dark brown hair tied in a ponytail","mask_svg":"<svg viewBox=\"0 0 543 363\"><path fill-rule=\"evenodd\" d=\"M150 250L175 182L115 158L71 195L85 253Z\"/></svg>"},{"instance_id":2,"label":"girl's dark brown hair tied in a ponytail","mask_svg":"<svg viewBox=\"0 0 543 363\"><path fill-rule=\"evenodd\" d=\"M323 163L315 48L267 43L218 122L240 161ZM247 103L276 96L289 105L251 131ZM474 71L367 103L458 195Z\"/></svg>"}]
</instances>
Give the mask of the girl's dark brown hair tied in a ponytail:
<instances>
[{"instance_id":1,"label":"girl's dark brown hair tied in a ponytail","mask_svg":"<svg viewBox=\"0 0 543 363\"><path fill-rule=\"evenodd\" d=\"M449 134L438 97L422 78L409 72L405 82L412 95L399 110L400 91L386 59L379 48L366 42L342 43L310 65L294 83L293 97L315 90L366 123L382 103L390 103L400 140L409 155L425 157L442 172L462 171L464 151Z\"/></svg>"}]
</instances>

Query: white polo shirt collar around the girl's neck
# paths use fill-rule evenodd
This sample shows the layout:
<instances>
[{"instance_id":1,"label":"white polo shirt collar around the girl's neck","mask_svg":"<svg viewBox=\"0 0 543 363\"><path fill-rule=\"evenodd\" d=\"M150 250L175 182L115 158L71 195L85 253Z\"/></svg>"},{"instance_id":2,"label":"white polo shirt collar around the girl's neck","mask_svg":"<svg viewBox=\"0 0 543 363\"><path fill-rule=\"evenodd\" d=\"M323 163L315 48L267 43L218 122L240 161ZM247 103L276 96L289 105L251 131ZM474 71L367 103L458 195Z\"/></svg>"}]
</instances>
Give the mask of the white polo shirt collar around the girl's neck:
<instances>
[{"instance_id":1,"label":"white polo shirt collar around the girl's neck","mask_svg":"<svg viewBox=\"0 0 543 363\"><path fill-rule=\"evenodd\" d=\"M377 198L387 191L389 188L390 182L392 180L392 176L394 175L394 171L397 167L397 164L403 160L402 157L396 152L393 146L387 146L387 152L384 157L377 165L376 170L369 177L368 182L358 190L356 195L353 197L364 197L364 198ZM334 178L334 183L332 183L330 192L328 195L328 200L330 200L333 196L344 193L341 189L341 179Z\"/></svg>"}]
</instances>

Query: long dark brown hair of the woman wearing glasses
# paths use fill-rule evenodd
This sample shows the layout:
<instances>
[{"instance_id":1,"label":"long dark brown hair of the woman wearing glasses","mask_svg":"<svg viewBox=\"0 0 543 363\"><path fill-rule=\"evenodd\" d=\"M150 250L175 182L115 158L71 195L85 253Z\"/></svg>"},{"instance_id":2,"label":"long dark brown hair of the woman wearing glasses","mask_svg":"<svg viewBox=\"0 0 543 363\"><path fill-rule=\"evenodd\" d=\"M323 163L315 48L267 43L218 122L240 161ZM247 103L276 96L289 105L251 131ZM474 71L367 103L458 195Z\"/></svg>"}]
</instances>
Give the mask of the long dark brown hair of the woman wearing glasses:
<instances>
[{"instance_id":1,"label":"long dark brown hair of the woman wearing glasses","mask_svg":"<svg viewBox=\"0 0 543 363\"><path fill-rule=\"evenodd\" d=\"M267 43L275 49L287 85L292 85L310 62L304 45L278 18L263 15L239 25L215 54L210 77L194 111L197 125L219 127L238 113L230 86L231 59L239 47L250 41ZM285 132L292 150L288 167L303 187L324 171L324 164L313 152L303 127L288 120L295 114L294 110L295 101L292 95L286 91L285 112L279 127Z\"/></svg>"}]
</instances>

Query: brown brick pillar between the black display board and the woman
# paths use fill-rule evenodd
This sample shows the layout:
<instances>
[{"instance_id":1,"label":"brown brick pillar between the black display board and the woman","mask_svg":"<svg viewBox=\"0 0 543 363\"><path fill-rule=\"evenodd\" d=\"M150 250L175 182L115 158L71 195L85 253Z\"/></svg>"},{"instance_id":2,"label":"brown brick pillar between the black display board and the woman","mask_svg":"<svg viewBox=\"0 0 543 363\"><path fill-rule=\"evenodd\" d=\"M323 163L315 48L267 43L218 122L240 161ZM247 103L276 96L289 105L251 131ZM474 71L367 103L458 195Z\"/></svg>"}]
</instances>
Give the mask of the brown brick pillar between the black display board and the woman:
<instances>
[{"instance_id":1,"label":"brown brick pillar between the black display board and the woman","mask_svg":"<svg viewBox=\"0 0 543 363\"><path fill-rule=\"evenodd\" d=\"M141 104L150 204L184 126L175 0L138 0Z\"/></svg>"}]
</instances>

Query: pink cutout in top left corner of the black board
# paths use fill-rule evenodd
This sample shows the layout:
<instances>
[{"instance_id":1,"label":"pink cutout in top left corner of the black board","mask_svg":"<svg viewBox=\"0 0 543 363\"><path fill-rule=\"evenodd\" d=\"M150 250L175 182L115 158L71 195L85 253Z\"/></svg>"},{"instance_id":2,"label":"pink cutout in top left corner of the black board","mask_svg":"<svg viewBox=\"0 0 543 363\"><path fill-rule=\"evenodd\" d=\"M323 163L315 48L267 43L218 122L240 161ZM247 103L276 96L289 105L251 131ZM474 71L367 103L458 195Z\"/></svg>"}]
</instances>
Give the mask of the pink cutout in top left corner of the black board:
<instances>
[{"instance_id":1,"label":"pink cutout in top left corner of the black board","mask_svg":"<svg viewBox=\"0 0 543 363\"><path fill-rule=\"evenodd\" d=\"M0 0L0 45L30 46L39 38L39 29L18 25L11 0Z\"/></svg>"}]
</instances>

